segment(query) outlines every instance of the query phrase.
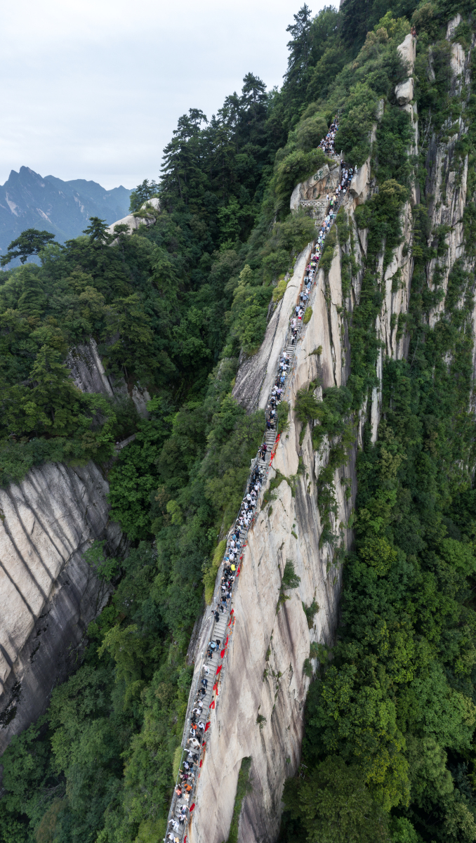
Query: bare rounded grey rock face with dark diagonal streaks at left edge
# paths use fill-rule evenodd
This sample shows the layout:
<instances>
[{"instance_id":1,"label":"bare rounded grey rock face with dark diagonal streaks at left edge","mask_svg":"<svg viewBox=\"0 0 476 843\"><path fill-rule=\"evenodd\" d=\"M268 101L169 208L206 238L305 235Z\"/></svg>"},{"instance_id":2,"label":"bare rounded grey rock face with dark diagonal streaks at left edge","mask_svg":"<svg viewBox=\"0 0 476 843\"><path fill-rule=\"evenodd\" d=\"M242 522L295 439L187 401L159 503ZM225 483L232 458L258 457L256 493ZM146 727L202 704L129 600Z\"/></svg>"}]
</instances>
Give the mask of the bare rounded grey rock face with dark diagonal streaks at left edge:
<instances>
[{"instance_id":1,"label":"bare rounded grey rock face with dark diagonal streaks at left edge","mask_svg":"<svg viewBox=\"0 0 476 843\"><path fill-rule=\"evenodd\" d=\"M0 754L45 711L109 598L83 560L94 539L120 549L108 491L94 463L46 464L0 490Z\"/></svg>"}]
</instances>

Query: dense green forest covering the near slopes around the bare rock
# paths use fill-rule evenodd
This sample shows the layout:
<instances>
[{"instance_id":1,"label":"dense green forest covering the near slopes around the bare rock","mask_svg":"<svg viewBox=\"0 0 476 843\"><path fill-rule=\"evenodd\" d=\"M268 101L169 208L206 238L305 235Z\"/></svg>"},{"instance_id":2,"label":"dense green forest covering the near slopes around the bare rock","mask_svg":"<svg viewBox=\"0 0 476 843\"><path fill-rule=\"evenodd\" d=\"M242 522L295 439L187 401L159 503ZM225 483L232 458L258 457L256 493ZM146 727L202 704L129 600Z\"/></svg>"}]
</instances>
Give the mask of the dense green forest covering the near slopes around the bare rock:
<instances>
[{"instance_id":1,"label":"dense green forest covering the near slopes around the bare rock","mask_svg":"<svg viewBox=\"0 0 476 843\"><path fill-rule=\"evenodd\" d=\"M359 454L342 626L334 651L320 652L307 774L286 783L281 840L476 840L473 275L455 263L444 318L430 330L428 312L442 297L437 272L431 291L425 266L445 254L447 231L428 245L427 148L409 159L409 117L393 96L406 76L396 46L415 24L420 125L431 120L444 142L465 108L468 132L455 154L470 156L471 260L474 96L450 95L445 40L457 12L455 37L468 49L473 6L464 0L346 0L340 12L327 7L315 17L302 7L288 27L280 91L249 73L210 120L196 109L179 119L160 179L131 196L139 216L143 201L160 197L161 211L148 211L154 225L114 238L93 218L64 245L25 237L12 247L38 254L40 266L7 269L0 282L1 481L47 460L108 466L112 516L131 550L121 560L107 558L101 543L88 553L115 592L88 628L81 667L3 755L2 843L152 843L163 835L190 688L190 631L264 427L261 413L247 416L231 397L238 357L259 346L282 294L276 282L313 238L313 221L290 215L289 199L324 163L317 147L327 126L339 111L338 146L360 166L382 98L372 150L379 189L357 214L369 234L350 320L350 379L322 405L308 393L296 407L302 424L320 418L340 435L331 466L345 459L353 414L376 383L378 255L385 265L399 242L414 170L421 198L402 326L409 362L386 364L378 440L372 446L367 431ZM348 291L359 267L342 214L338 242ZM329 244L331 255L336 247ZM147 386L148 420L129 398L74 387L67 352L90 336L113 381ZM131 432L136 441L110 468L115 440Z\"/></svg>"}]
</instances>

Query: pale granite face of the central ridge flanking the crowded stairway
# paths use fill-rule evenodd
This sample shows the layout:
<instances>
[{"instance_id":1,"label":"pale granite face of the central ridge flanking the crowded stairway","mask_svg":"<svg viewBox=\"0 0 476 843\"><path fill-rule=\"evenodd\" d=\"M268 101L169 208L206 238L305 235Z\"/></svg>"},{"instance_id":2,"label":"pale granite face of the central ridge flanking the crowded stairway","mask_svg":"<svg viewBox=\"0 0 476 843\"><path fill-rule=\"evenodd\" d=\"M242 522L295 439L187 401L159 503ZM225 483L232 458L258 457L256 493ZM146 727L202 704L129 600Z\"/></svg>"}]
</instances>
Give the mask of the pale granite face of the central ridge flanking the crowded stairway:
<instances>
[{"instance_id":1,"label":"pale granite face of the central ridge flanking the crowded stairway","mask_svg":"<svg viewBox=\"0 0 476 843\"><path fill-rule=\"evenodd\" d=\"M286 296L294 303L302 281L308 253L297 260L292 286ZM339 259L334 261L338 266ZM324 386L340 383L345 370L341 353L340 298L328 304L319 273L318 285L311 305L313 316L297 350L296 368L291 382L291 405L297 390L319 374ZM336 275L336 269L329 278ZM289 292L288 292L289 291ZM288 321L290 301L283 299L283 314L275 331L275 343L269 359L275 364L282 347L282 323ZM286 309L285 309L286 306ZM286 313L286 318L285 314ZM281 322L281 326L280 326ZM333 334L334 331L334 334ZM323 346L322 364L312 352ZM263 349L264 354L267 350ZM337 366L335 360L338 361ZM272 380L275 365L266 376ZM259 367L257 371L260 372ZM270 384L266 379L259 404L263 405ZM237 389L241 381L237 379ZM333 640L338 617L340 566L334 565L330 545L319 547L322 533L318 511L317 478L327 461L326 448L314 454L308 431L299 445L301 425L291 418L288 432L278 447L274 470L290 478L275 491L275 500L265 507L249 534L249 545L243 558L234 609L236 622L222 672L222 686L216 713L212 716L211 738L197 792L190 840L221 841L233 813L233 799L238 771L244 756L252 758L253 792L246 798L240 823L240 840L275 840L280 822L280 800L286 776L297 770L303 728L303 706L309 679L303 674L304 660L310 643ZM303 471L297 480L299 456ZM351 539L345 529L353 506L355 488L345 497L344 483L354 475L354 455L345 469L335 475L338 514L334 527L340 530L342 543ZM294 488L291 488L294 486ZM301 583L276 611L281 576L286 560L294 562ZM313 626L308 627L302 604L318 603ZM199 652L206 643L208 625L201 631ZM265 721L257 724L257 717ZM212 807L211 807L212 806Z\"/></svg>"}]
</instances>

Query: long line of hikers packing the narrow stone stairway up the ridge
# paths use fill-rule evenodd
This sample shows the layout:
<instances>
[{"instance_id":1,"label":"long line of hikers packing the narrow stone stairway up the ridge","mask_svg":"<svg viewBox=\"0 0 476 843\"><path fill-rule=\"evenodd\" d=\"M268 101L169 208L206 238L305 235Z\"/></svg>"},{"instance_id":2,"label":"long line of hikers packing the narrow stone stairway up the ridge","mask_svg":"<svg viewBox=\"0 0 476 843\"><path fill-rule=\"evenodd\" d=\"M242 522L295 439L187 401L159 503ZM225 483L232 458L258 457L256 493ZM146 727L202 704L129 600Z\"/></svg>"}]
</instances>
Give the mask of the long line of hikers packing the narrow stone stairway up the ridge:
<instances>
[{"instance_id":1,"label":"long line of hikers packing the narrow stone stairway up the ridge","mask_svg":"<svg viewBox=\"0 0 476 843\"><path fill-rule=\"evenodd\" d=\"M334 153L334 139L335 133L338 129L337 118L329 127L329 132L320 146L326 153ZM299 293L299 300L296 303L295 309L291 316L290 330L287 336L286 347L295 345L297 336L302 325L302 318L306 310L313 283L318 271L318 262L324 249L324 241L326 235L329 233L330 227L334 222L337 211L340 207L340 202L345 196L348 185L356 170L348 167L344 161L341 165L341 180L337 185L334 195L327 196L328 206L327 213L318 230L318 238L314 251L309 260L308 266L304 273L304 280L302 290ZM289 352L285 351L281 354L277 366L275 382L270 392L270 400L266 408L266 430L277 430L277 407L284 397L284 389L286 385L286 378L291 368L291 357ZM243 495L243 501L238 512L238 518L233 524L233 529L228 534L227 546L225 555L222 561L222 577L220 588L217 596L217 604L211 609L215 624L221 619L225 613L228 615L230 611L230 604L232 599L233 585L238 577L240 567L239 562L243 557L243 549L246 542L246 537L249 528L254 520L256 513L257 502L259 499L259 491L265 481L265 474L269 467L268 460L268 446L265 442L261 444L257 459L254 460L253 470L249 476L249 481ZM232 609L233 612L233 609ZM203 698L207 694L208 689L208 675L210 668L208 661L213 658L214 654L220 651L222 647L222 639L216 637L211 638L206 646L206 662L202 665L199 676L198 688L195 690L193 708L190 711L188 722L190 724L189 736L186 740L185 760L179 770L179 776L174 791L173 806L175 808L174 816L169 819L168 830L165 841L170 843L180 843L181 837L185 830L185 824L190 810L193 810L194 805L189 805L190 796L194 789L195 778L201 767L200 754L206 747L205 733L207 729L208 711L203 711ZM223 650L222 650L223 655ZM221 670L222 668L218 668ZM218 672L218 671L217 671ZM208 724L210 725L210 724ZM180 836L178 836L180 835Z\"/></svg>"}]
</instances>

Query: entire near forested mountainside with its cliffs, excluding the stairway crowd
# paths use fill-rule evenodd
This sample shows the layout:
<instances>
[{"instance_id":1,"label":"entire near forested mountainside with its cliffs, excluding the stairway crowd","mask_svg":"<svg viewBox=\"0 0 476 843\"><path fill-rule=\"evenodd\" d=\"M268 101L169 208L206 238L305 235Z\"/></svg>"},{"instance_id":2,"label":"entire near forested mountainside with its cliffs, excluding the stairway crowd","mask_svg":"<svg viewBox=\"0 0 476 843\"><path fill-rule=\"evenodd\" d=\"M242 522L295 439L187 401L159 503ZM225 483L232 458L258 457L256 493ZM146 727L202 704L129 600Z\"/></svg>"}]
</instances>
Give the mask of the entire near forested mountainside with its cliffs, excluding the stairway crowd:
<instances>
[{"instance_id":1,"label":"entire near forested mountainside with its cliffs, excluding the stairway crowd","mask_svg":"<svg viewBox=\"0 0 476 843\"><path fill-rule=\"evenodd\" d=\"M134 225L3 273L2 843L476 840L475 13L303 6Z\"/></svg>"}]
</instances>

